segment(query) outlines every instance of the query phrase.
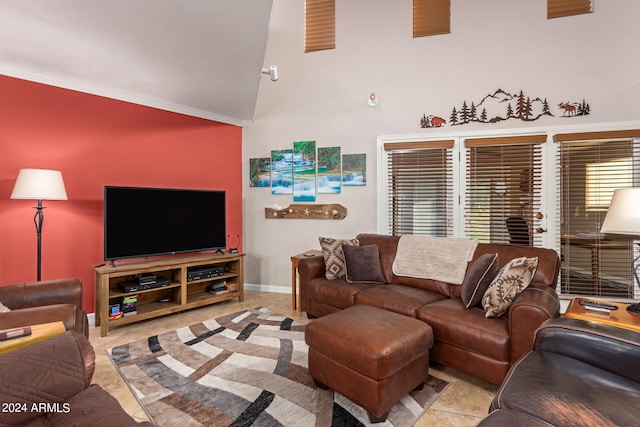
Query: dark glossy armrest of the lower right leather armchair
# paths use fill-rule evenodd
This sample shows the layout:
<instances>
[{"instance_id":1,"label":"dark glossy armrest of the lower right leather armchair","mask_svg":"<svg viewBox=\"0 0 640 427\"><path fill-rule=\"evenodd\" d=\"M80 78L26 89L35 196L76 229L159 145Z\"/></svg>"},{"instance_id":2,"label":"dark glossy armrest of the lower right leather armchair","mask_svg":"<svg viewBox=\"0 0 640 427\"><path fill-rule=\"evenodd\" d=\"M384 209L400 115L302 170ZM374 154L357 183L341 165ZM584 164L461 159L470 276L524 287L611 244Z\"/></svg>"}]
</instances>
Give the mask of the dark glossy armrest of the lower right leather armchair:
<instances>
[{"instance_id":1,"label":"dark glossy armrest of the lower right leather armchair","mask_svg":"<svg viewBox=\"0 0 640 427\"><path fill-rule=\"evenodd\" d=\"M640 332L580 319L546 321L534 349L561 354L640 382Z\"/></svg>"}]
</instances>

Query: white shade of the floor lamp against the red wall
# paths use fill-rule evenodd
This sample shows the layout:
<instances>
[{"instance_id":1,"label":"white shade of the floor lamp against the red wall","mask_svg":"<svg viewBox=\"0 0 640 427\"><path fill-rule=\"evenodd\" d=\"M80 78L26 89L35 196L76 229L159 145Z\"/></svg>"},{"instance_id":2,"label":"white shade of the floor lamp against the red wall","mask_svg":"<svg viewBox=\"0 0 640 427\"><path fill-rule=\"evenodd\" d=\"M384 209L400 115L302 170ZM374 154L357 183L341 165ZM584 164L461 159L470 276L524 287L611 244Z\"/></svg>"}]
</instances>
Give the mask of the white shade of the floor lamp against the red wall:
<instances>
[{"instance_id":1,"label":"white shade of the floor lamp against the red wall","mask_svg":"<svg viewBox=\"0 0 640 427\"><path fill-rule=\"evenodd\" d=\"M20 169L11 198L67 200L62 172L48 169Z\"/></svg>"}]
</instances>

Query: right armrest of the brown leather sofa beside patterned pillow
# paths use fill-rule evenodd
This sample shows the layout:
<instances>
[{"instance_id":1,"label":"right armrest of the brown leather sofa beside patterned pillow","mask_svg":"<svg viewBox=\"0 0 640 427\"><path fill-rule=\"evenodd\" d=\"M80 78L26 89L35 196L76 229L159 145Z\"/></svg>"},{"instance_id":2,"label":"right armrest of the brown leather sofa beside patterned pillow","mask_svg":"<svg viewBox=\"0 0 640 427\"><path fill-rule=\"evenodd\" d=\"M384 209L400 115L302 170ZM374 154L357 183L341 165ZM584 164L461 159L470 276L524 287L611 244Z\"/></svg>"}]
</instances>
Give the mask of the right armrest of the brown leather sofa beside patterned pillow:
<instances>
[{"instance_id":1,"label":"right armrest of the brown leather sofa beside patterned pillow","mask_svg":"<svg viewBox=\"0 0 640 427\"><path fill-rule=\"evenodd\" d=\"M510 359L515 363L533 348L538 327L559 316L558 294L550 286L531 284L509 308Z\"/></svg>"}]
</instances>

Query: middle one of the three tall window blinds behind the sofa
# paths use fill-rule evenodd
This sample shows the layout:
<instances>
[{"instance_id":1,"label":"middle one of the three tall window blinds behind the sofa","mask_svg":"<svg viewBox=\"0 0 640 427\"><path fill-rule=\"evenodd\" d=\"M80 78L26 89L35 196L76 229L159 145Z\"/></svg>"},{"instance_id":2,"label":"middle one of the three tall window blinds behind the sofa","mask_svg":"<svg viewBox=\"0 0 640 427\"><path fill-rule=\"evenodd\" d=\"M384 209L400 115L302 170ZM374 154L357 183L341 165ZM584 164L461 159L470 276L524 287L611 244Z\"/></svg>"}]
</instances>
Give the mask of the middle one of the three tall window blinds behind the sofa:
<instances>
[{"instance_id":1,"label":"middle one of the three tall window blinds behind the sofa","mask_svg":"<svg viewBox=\"0 0 640 427\"><path fill-rule=\"evenodd\" d=\"M546 135L465 140L465 231L483 243L540 245L542 143Z\"/></svg>"}]
</instances>

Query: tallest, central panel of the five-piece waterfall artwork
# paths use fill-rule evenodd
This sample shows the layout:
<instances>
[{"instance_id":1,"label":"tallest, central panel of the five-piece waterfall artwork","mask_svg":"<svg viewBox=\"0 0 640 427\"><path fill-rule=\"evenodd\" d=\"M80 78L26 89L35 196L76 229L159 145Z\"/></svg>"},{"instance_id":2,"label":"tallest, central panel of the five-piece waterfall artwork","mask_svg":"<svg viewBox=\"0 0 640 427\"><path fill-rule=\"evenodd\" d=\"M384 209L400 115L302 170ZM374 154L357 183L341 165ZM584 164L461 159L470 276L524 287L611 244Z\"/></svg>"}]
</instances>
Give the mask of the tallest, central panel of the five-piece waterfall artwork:
<instances>
[{"instance_id":1,"label":"tallest, central panel of the five-piece waterfall artwork","mask_svg":"<svg viewBox=\"0 0 640 427\"><path fill-rule=\"evenodd\" d=\"M293 201L316 201L316 142L293 143Z\"/></svg>"}]
</instances>

